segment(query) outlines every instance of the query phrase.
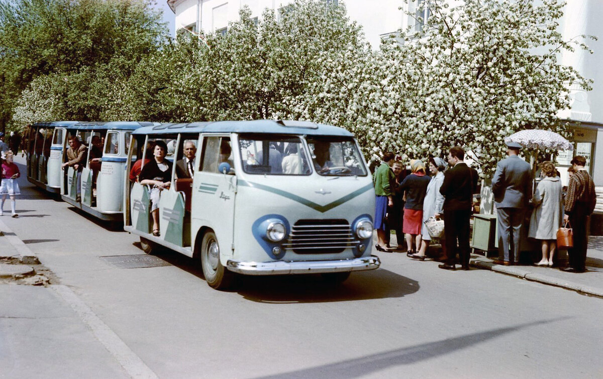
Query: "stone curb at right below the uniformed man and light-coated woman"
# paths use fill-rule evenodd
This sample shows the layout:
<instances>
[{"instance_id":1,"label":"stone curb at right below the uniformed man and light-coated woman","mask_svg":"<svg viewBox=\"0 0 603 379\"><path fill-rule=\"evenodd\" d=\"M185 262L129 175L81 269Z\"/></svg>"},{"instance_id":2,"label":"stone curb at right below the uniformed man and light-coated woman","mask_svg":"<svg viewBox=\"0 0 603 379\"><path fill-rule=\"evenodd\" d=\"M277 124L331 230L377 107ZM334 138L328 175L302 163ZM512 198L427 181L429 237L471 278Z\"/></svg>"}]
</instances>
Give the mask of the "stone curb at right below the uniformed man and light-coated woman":
<instances>
[{"instance_id":1,"label":"stone curb at right below the uniformed man and light-coated woman","mask_svg":"<svg viewBox=\"0 0 603 379\"><path fill-rule=\"evenodd\" d=\"M588 295L603 297L603 289L586 286L584 284L567 281L560 278L551 277L549 275L538 274L537 272L522 269L522 266L503 266L493 262L485 262L482 260L472 260L470 265L476 268L500 272L501 274L513 275L525 280L537 281L538 283L549 284L550 286L563 287L565 289L586 293Z\"/></svg>"}]
</instances>

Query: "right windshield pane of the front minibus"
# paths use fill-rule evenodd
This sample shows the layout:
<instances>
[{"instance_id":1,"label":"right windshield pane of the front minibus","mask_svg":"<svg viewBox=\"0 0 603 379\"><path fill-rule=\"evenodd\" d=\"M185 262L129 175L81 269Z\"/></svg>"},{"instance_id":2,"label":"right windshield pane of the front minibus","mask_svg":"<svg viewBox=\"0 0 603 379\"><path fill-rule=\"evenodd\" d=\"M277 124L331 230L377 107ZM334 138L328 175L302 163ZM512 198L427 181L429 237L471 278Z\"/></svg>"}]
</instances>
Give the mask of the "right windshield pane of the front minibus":
<instances>
[{"instance_id":1,"label":"right windshield pane of the front minibus","mask_svg":"<svg viewBox=\"0 0 603 379\"><path fill-rule=\"evenodd\" d=\"M345 137L308 137L314 170L326 176L367 175L367 169L356 143Z\"/></svg>"}]
</instances>

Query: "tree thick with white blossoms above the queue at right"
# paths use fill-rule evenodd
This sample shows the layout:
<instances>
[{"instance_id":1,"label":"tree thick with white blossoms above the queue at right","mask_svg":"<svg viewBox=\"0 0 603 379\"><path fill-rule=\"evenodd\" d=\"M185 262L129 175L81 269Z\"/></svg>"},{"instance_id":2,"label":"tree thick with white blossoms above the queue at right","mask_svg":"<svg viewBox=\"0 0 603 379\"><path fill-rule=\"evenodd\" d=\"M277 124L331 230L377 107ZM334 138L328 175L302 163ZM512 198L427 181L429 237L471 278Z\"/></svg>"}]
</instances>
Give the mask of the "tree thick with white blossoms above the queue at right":
<instances>
[{"instance_id":1,"label":"tree thick with white blossoms above the queue at right","mask_svg":"<svg viewBox=\"0 0 603 379\"><path fill-rule=\"evenodd\" d=\"M564 49L587 49L558 33L564 4L449 3L424 2L431 16L421 31L400 31L400 44L392 39L380 51L324 61L300 113L355 131L370 158L386 149L443 156L460 145L486 174L502 156L505 136L525 128L564 133L555 114L569 107L567 87L590 84L557 61Z\"/></svg>"}]
</instances>

